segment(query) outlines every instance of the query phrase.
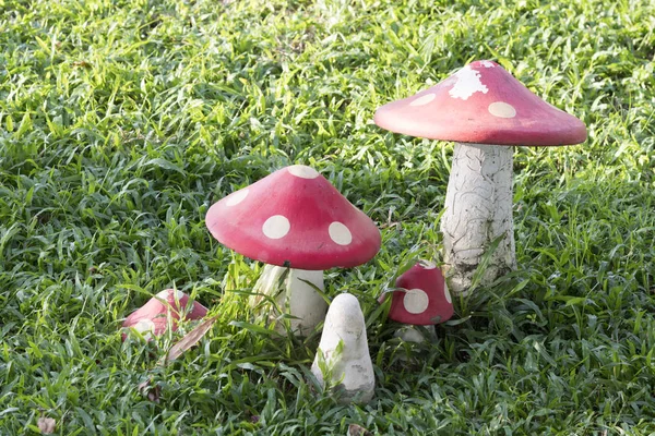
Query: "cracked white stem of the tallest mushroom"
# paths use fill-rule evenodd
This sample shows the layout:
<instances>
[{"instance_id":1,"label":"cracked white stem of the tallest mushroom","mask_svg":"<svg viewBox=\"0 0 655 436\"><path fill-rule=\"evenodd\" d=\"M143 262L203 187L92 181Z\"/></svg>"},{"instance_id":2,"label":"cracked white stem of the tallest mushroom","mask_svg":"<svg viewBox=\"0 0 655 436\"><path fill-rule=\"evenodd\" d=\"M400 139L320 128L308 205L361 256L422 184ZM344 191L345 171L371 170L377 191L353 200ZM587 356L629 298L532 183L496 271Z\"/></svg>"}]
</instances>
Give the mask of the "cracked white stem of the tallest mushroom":
<instances>
[{"instance_id":1,"label":"cracked white stem of the tallest mushroom","mask_svg":"<svg viewBox=\"0 0 655 436\"><path fill-rule=\"evenodd\" d=\"M516 268L512 219L513 147L456 143L441 218L450 289L466 294L491 242L480 286Z\"/></svg>"}]
</instances>

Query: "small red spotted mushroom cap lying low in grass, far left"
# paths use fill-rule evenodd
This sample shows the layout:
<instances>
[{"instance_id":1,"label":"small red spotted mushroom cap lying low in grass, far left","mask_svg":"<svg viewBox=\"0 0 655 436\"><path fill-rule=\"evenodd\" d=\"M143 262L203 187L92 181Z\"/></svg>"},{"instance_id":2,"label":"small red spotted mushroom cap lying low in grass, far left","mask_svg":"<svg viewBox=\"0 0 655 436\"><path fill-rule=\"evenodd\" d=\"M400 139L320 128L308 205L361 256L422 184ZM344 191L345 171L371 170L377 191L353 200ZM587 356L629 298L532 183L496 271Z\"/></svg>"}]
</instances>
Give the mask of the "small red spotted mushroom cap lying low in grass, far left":
<instances>
[{"instance_id":1,"label":"small red spotted mushroom cap lying low in grass, far left","mask_svg":"<svg viewBox=\"0 0 655 436\"><path fill-rule=\"evenodd\" d=\"M187 313L189 305L189 296L182 291L167 289L159 292L147 301L141 308L132 312L126 318L123 328L133 328L146 340L153 339L154 336L160 336L166 331L168 323L172 331L177 330L178 322L181 319L200 319L207 314L207 308L194 301L193 305ZM122 340L127 339L127 335L122 335Z\"/></svg>"}]
</instances>

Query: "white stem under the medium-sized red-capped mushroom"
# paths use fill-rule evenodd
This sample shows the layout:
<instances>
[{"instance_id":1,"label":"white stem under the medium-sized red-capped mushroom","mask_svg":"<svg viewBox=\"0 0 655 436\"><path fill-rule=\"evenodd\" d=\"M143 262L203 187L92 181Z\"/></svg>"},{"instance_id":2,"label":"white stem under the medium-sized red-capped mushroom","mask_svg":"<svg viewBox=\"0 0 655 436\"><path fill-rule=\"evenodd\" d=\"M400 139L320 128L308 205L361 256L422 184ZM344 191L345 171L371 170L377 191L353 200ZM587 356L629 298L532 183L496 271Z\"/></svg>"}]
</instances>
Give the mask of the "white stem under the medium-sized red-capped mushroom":
<instances>
[{"instance_id":1,"label":"white stem under the medium-sized red-capped mushroom","mask_svg":"<svg viewBox=\"0 0 655 436\"><path fill-rule=\"evenodd\" d=\"M287 270L288 274L283 278ZM284 281L281 282L281 280ZM254 286L254 291L271 296L277 307L284 311L285 314L293 316L289 319L291 331L300 336L308 336L319 323L325 319L325 313L327 312L327 303L314 287L321 291L324 290L323 271L321 270L309 271L265 265L262 276ZM251 300L251 304L257 307L262 300L261 295L255 295ZM272 312L270 317L276 318L279 315L279 313ZM275 329L278 332L284 332L284 324L278 322Z\"/></svg>"}]
</instances>

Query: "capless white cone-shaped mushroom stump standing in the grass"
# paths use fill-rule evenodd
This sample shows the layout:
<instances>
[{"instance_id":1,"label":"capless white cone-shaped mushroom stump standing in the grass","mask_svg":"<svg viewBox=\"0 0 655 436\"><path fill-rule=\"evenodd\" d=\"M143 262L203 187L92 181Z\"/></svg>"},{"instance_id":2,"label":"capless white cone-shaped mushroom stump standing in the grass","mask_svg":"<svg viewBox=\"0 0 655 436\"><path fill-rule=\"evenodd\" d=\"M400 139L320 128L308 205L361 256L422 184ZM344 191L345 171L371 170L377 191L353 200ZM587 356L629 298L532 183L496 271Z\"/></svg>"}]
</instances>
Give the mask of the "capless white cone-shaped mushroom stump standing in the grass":
<instances>
[{"instance_id":1,"label":"capless white cone-shaped mushroom stump standing in the grass","mask_svg":"<svg viewBox=\"0 0 655 436\"><path fill-rule=\"evenodd\" d=\"M330 304L311 372L324 387L338 383L333 393L342 403L367 403L373 398L376 376L366 338L366 323L355 295L342 293Z\"/></svg>"}]
</instances>

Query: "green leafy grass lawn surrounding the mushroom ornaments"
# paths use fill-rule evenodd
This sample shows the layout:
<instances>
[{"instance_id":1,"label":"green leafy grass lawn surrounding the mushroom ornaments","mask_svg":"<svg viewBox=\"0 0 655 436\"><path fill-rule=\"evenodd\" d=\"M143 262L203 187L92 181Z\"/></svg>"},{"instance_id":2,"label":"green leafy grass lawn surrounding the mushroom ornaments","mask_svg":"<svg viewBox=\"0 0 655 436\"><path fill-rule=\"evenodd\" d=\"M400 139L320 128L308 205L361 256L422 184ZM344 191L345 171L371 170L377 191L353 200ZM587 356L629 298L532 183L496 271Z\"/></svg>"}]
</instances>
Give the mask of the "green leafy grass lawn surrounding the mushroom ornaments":
<instances>
[{"instance_id":1,"label":"green leafy grass lawn surrounding the mushroom ornaments","mask_svg":"<svg viewBox=\"0 0 655 436\"><path fill-rule=\"evenodd\" d=\"M655 432L654 29L647 0L0 0L0 434L38 434L39 416L60 435ZM452 144L372 114L475 59L590 137L516 150L520 269L412 349L376 296L439 250ZM382 229L373 261L327 275L367 316L366 407L317 393L318 335L243 324L234 291L261 266L204 226L293 162ZM119 327L169 287L219 318L160 367L191 325L156 344Z\"/></svg>"}]
</instances>

